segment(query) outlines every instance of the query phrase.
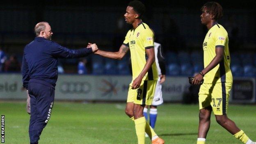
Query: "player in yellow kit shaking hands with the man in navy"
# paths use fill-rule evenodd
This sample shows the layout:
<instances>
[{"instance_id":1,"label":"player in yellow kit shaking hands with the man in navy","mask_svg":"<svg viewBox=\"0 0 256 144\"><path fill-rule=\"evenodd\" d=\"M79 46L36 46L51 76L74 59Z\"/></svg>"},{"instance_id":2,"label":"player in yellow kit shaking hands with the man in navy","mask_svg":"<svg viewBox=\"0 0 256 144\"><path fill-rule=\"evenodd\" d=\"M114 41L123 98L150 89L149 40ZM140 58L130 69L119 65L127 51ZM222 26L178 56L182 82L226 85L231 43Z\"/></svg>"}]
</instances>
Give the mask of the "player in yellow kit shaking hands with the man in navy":
<instances>
[{"instance_id":1,"label":"player in yellow kit shaking hands with the man in navy","mask_svg":"<svg viewBox=\"0 0 256 144\"><path fill-rule=\"evenodd\" d=\"M143 116L145 105L151 105L153 101L158 79L153 32L146 23L142 22L141 16L144 11L145 6L142 2L137 0L130 2L124 17L127 23L133 25L133 29L127 32L119 51L98 50L96 54L112 59L122 59L130 50L133 80L128 91L126 114L135 123L138 144L145 144L145 132L151 138L152 144L164 144L164 140L156 135Z\"/></svg>"}]
</instances>

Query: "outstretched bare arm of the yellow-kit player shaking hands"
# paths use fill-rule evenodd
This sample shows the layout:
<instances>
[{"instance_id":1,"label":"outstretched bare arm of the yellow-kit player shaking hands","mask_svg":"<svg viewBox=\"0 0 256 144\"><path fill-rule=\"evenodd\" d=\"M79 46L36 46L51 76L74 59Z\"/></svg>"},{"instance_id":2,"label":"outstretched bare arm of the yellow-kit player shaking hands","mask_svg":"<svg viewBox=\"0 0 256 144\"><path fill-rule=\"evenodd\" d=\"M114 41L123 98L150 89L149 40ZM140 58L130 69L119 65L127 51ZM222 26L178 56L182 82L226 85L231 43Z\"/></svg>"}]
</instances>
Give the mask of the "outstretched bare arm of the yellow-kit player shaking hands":
<instances>
[{"instance_id":1,"label":"outstretched bare arm of the yellow-kit player shaking hands","mask_svg":"<svg viewBox=\"0 0 256 144\"><path fill-rule=\"evenodd\" d=\"M103 50L97 50L95 54L101 55L103 57L107 57L110 59L122 59L126 53L128 52L129 47L125 45L121 45L118 52L107 52Z\"/></svg>"}]
</instances>

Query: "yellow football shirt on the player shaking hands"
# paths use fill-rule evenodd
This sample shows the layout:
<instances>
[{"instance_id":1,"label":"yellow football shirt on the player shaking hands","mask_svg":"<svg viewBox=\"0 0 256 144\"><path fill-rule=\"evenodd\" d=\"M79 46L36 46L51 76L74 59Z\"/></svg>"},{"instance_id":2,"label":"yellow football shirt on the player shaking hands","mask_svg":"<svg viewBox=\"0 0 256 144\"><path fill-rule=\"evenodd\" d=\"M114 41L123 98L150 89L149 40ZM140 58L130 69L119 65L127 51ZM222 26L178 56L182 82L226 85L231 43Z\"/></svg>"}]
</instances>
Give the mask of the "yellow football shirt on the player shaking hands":
<instances>
[{"instance_id":1,"label":"yellow football shirt on the player shaking hands","mask_svg":"<svg viewBox=\"0 0 256 144\"><path fill-rule=\"evenodd\" d=\"M142 72L147 60L146 49L154 48L153 32L146 23L139 23L136 29L127 32L123 45L130 48L133 80ZM155 62L142 80L157 80L158 72Z\"/></svg>"}]
</instances>

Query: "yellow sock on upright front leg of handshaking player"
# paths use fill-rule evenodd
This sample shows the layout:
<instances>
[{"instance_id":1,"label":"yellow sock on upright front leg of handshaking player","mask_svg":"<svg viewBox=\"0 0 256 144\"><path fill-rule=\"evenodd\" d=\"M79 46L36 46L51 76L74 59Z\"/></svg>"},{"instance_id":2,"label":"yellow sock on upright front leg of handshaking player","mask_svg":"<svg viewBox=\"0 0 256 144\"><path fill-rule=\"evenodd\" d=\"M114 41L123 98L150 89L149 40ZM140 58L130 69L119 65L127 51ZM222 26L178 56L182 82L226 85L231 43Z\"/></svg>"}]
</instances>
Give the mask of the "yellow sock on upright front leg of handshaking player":
<instances>
[{"instance_id":1,"label":"yellow sock on upright front leg of handshaking player","mask_svg":"<svg viewBox=\"0 0 256 144\"><path fill-rule=\"evenodd\" d=\"M138 138L138 144L145 144L145 128L146 128L146 119L141 117L134 120L136 134Z\"/></svg>"}]
</instances>

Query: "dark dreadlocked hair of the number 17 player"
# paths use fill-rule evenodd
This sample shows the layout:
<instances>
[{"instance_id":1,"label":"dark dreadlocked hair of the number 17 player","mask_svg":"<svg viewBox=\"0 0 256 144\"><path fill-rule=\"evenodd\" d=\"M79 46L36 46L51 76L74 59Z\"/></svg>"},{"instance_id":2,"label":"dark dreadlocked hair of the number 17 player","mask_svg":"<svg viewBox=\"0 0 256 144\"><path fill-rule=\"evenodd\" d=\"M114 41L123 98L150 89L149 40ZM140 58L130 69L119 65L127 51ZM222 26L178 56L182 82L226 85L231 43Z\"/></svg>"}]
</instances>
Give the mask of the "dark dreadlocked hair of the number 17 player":
<instances>
[{"instance_id":1,"label":"dark dreadlocked hair of the number 17 player","mask_svg":"<svg viewBox=\"0 0 256 144\"><path fill-rule=\"evenodd\" d=\"M218 20L223 16L222 6L219 5L218 2L207 2L203 7L201 7L201 10L204 8L206 8L206 12L208 14L212 14L214 16L213 19L215 20Z\"/></svg>"}]
</instances>

